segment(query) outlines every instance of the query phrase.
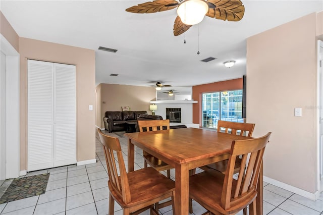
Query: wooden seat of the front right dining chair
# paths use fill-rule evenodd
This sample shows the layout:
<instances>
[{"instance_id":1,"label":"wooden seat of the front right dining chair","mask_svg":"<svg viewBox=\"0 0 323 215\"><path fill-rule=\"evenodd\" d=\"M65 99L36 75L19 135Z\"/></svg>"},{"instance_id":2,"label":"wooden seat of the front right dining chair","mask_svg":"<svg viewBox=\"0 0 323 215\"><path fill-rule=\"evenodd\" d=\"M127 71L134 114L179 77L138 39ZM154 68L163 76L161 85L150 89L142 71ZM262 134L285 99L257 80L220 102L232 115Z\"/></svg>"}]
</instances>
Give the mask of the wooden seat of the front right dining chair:
<instances>
[{"instance_id":1,"label":"wooden seat of the front right dining chair","mask_svg":"<svg viewBox=\"0 0 323 215\"><path fill-rule=\"evenodd\" d=\"M196 200L206 209L210 210L210 208L213 208L223 214L235 214L256 198L257 192L254 192L248 199L247 203L238 202L235 205L230 205L230 210L224 210L224 208L220 205L224 178L224 174L213 169L190 176L189 197ZM237 181L233 180L233 191L235 190L236 186ZM231 197L233 197L233 195L234 194L232 192Z\"/></svg>"}]
</instances>

